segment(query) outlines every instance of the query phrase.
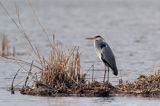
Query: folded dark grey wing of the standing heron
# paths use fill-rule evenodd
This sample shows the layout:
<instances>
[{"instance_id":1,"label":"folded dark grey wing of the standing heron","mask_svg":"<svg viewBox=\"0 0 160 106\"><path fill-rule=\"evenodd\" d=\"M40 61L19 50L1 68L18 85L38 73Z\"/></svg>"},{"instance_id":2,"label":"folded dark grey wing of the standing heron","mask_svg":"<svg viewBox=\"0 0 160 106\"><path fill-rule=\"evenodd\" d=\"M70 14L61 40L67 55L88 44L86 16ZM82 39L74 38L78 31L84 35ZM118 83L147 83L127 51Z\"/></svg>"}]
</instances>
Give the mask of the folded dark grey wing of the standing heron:
<instances>
[{"instance_id":1,"label":"folded dark grey wing of the standing heron","mask_svg":"<svg viewBox=\"0 0 160 106\"><path fill-rule=\"evenodd\" d=\"M111 48L108 45L106 45L105 47L102 48L101 58L102 58L103 62L113 70L114 75L117 75L118 70L117 70L117 66L116 66L115 57L114 57L114 54L113 54Z\"/></svg>"}]
</instances>

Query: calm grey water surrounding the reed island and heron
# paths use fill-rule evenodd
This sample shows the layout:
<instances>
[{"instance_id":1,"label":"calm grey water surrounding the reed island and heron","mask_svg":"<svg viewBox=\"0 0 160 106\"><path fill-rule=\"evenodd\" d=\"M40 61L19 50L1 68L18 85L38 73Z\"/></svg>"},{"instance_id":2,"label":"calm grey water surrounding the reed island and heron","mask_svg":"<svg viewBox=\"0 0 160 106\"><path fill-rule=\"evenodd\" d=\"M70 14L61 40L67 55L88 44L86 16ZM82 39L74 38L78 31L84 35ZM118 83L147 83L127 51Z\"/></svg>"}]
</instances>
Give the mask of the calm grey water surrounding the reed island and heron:
<instances>
[{"instance_id":1,"label":"calm grey water surrounding the reed island and heron","mask_svg":"<svg viewBox=\"0 0 160 106\"><path fill-rule=\"evenodd\" d=\"M47 56L49 43L37 23L27 0L1 0L16 21L16 5L20 20L32 43ZM86 41L87 36L100 34L109 43L115 54L118 77L111 74L111 82L117 84L122 76L124 80L133 80L144 73L153 73L160 68L160 1L158 0L38 0L32 1L39 20L48 33L56 35L59 44L79 46L83 70L92 64L96 69L104 66L96 57L93 42ZM24 36L0 8L0 32L6 32L11 48L17 52L32 52ZM50 36L51 37L51 36ZM30 56L17 58L31 61ZM159 99L112 97L112 98L46 98L10 95L7 88L19 66L0 59L0 105L6 106L150 106L160 105ZM21 73L16 82L24 80ZM95 77L103 76L103 72ZM88 76L90 77L90 76ZM101 80L101 79L99 79Z\"/></svg>"}]
</instances>

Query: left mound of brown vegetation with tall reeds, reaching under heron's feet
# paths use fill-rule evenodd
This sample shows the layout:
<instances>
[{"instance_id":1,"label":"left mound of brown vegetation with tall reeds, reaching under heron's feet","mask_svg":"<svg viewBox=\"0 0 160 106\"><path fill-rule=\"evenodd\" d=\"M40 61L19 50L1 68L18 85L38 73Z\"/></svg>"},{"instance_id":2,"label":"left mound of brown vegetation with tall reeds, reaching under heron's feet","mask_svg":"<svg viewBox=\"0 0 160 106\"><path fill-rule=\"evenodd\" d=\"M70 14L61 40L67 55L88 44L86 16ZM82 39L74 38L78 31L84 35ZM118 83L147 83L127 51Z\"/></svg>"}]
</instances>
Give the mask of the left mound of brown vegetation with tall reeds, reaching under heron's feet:
<instances>
[{"instance_id":1,"label":"left mound of brown vegetation with tall reeds, reaching under heron's feet","mask_svg":"<svg viewBox=\"0 0 160 106\"><path fill-rule=\"evenodd\" d=\"M55 41L48 59L41 60L42 70L32 86L24 86L22 94L42 96L109 96L111 84L87 82L81 70L79 47L62 49ZM27 76L28 77L28 76Z\"/></svg>"}]
</instances>

